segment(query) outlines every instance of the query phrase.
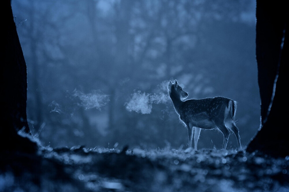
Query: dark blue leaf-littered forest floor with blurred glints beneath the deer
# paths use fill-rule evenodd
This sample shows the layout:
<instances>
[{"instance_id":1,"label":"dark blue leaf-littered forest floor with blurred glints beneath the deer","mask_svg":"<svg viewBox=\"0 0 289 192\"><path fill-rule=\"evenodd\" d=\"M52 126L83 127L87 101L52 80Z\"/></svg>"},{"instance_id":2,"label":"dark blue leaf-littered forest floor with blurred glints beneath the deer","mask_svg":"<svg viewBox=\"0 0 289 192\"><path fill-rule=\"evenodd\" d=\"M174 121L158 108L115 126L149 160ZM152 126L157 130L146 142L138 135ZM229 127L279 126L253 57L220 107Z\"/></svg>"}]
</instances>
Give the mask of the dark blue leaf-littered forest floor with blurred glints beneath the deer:
<instances>
[{"instance_id":1,"label":"dark blue leaf-littered forest floor with blurred glints beneath the deer","mask_svg":"<svg viewBox=\"0 0 289 192\"><path fill-rule=\"evenodd\" d=\"M289 191L289 156L234 150L44 148L0 159L0 191Z\"/></svg>"}]
</instances>

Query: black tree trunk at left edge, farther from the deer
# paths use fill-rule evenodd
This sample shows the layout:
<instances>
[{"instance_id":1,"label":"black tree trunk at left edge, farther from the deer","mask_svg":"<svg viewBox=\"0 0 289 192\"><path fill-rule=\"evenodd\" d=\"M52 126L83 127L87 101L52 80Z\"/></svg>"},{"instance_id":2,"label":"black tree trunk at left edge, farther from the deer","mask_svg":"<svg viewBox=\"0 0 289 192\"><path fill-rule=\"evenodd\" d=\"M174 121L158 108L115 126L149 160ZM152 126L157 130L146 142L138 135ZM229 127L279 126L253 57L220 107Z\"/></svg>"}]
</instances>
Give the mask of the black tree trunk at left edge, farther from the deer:
<instances>
[{"instance_id":1,"label":"black tree trunk at left edge, farther from the deer","mask_svg":"<svg viewBox=\"0 0 289 192\"><path fill-rule=\"evenodd\" d=\"M36 144L17 131L30 133L26 115L27 70L19 42L10 1L2 3L4 26L2 26L2 121L0 125L0 149L33 152Z\"/></svg>"}]
</instances>

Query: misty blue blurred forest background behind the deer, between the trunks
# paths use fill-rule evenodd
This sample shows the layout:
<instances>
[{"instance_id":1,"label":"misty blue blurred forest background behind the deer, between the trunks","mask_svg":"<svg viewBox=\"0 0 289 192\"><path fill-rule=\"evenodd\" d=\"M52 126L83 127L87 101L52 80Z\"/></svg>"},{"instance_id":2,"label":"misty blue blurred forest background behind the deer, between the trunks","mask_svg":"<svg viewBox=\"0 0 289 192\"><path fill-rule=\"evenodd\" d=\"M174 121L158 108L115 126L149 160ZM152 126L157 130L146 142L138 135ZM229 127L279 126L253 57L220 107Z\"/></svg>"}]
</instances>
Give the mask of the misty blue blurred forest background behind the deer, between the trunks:
<instances>
[{"instance_id":1,"label":"misty blue blurred forest background behind the deer, between the trunks","mask_svg":"<svg viewBox=\"0 0 289 192\"><path fill-rule=\"evenodd\" d=\"M255 1L12 0L27 64L27 118L43 146L187 148L168 96L237 101L246 146L260 126ZM233 133L231 133L233 134ZM201 130L198 149L223 144ZM238 147L231 135L227 148Z\"/></svg>"}]
</instances>

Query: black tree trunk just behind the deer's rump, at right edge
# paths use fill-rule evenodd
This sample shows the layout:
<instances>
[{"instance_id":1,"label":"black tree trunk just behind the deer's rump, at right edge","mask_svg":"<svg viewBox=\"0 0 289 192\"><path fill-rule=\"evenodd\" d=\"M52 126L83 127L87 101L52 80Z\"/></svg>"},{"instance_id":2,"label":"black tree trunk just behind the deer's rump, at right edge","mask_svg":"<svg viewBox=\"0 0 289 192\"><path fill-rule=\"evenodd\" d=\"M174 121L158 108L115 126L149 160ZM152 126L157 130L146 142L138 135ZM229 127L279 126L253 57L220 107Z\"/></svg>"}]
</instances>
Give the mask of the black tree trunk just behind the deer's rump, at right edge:
<instances>
[{"instance_id":1,"label":"black tree trunk just behind the deer's rump, at right edge","mask_svg":"<svg viewBox=\"0 0 289 192\"><path fill-rule=\"evenodd\" d=\"M257 0L256 58L261 130L247 147L272 156L289 155L287 127L288 8L285 1ZM286 33L287 32L287 33ZM277 80L277 81L276 81Z\"/></svg>"}]
</instances>

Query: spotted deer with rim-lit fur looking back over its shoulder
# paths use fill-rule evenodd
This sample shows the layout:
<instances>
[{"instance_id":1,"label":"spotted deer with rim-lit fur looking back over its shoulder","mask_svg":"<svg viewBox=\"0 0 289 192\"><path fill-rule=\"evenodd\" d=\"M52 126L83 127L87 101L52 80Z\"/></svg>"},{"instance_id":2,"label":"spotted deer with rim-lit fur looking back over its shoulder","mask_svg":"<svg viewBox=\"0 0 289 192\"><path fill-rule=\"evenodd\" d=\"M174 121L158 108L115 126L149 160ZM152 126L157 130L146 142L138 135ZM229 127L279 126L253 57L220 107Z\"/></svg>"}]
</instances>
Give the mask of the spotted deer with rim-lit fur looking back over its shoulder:
<instances>
[{"instance_id":1,"label":"spotted deer with rim-lit fur looking back over its shoulder","mask_svg":"<svg viewBox=\"0 0 289 192\"><path fill-rule=\"evenodd\" d=\"M238 150L242 150L239 129L236 127L235 114L237 102L229 98L217 96L214 98L188 99L188 93L179 86L175 79L174 83L168 82L168 94L173 102L179 119L188 129L189 148L192 148L192 137L194 131L194 150L197 151L197 144L201 129L218 128L223 135L222 149L227 148L230 129L236 136Z\"/></svg>"}]
</instances>

